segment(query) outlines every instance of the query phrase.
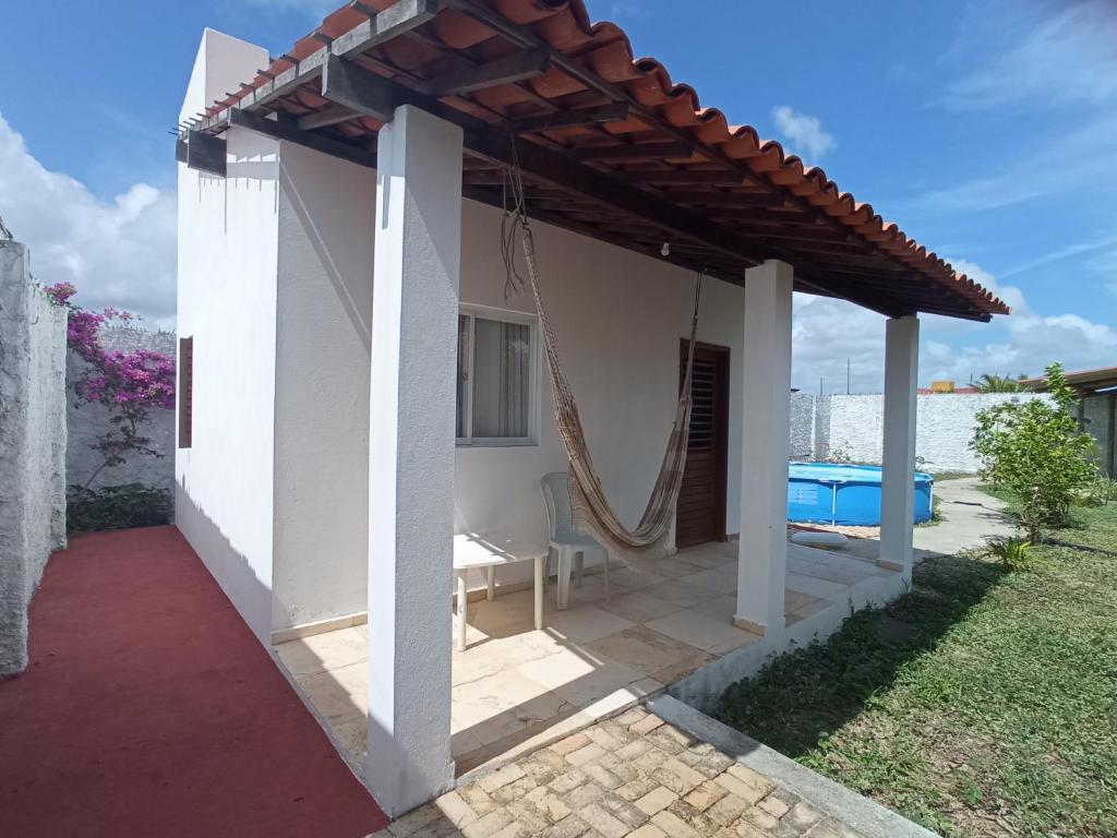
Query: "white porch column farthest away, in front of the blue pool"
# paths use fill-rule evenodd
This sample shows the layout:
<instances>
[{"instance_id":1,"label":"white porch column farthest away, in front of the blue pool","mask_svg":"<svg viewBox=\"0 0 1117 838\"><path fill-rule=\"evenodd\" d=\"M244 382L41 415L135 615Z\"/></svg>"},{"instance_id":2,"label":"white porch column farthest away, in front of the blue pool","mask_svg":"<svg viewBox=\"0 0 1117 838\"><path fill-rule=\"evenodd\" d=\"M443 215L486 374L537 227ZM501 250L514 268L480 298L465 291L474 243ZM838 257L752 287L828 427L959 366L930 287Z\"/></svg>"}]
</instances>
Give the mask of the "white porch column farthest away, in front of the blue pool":
<instances>
[{"instance_id":1,"label":"white porch column farthest away, in front of the blue pool","mask_svg":"<svg viewBox=\"0 0 1117 838\"><path fill-rule=\"evenodd\" d=\"M919 374L919 318L894 317L885 327L885 439L880 480L882 568L911 578L915 515L916 382Z\"/></svg>"}]
</instances>

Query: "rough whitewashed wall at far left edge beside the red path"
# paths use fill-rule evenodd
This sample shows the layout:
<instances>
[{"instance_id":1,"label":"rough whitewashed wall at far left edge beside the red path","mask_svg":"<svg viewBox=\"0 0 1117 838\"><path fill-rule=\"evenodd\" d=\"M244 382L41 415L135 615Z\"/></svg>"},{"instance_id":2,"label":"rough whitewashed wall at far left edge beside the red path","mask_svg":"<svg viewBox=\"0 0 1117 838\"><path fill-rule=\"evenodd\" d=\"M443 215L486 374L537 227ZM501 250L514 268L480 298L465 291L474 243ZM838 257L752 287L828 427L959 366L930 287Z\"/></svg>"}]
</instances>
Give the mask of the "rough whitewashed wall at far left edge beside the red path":
<instances>
[{"instance_id":1,"label":"rough whitewashed wall at far left edge beside the red path","mask_svg":"<svg viewBox=\"0 0 1117 838\"><path fill-rule=\"evenodd\" d=\"M0 240L0 677L27 666L27 608L66 544L66 310Z\"/></svg>"}]
</instances>

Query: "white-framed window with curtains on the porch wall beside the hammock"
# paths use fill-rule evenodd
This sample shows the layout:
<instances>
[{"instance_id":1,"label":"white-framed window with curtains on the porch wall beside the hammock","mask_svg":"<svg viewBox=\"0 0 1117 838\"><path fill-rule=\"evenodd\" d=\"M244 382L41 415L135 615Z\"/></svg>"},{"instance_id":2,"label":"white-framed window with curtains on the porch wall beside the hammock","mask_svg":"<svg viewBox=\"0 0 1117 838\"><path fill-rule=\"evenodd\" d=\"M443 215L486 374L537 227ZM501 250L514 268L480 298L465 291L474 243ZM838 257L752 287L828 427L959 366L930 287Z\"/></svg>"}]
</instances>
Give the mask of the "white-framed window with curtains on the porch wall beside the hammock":
<instances>
[{"instance_id":1,"label":"white-framed window with curtains on the porch wall beside the hammock","mask_svg":"<svg viewBox=\"0 0 1117 838\"><path fill-rule=\"evenodd\" d=\"M535 325L527 316L458 316L459 445L535 441Z\"/></svg>"}]
</instances>

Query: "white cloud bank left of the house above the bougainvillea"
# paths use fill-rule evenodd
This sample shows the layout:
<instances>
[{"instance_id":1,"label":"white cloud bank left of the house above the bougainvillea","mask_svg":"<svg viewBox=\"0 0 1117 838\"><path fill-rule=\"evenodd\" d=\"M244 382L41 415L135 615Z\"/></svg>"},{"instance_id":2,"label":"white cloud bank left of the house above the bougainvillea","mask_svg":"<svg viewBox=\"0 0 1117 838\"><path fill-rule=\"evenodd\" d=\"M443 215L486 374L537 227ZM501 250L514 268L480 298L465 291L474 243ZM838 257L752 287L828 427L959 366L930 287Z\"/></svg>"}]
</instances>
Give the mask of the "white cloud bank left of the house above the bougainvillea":
<instances>
[{"instance_id":1,"label":"white cloud bank left of the house above the bougainvillea","mask_svg":"<svg viewBox=\"0 0 1117 838\"><path fill-rule=\"evenodd\" d=\"M70 282L75 302L174 323L175 200L136 183L103 201L83 183L45 169L0 115L0 216L31 250L44 285Z\"/></svg>"}]
</instances>

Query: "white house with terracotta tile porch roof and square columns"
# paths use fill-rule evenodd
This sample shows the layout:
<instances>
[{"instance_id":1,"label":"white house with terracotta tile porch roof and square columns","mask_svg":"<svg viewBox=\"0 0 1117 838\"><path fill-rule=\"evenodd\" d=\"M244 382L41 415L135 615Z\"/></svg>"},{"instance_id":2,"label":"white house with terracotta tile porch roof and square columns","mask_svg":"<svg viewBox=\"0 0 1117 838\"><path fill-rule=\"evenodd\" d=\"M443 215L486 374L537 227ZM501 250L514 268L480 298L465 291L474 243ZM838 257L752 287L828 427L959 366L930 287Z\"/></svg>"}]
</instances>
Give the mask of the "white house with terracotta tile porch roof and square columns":
<instances>
[{"instance_id":1,"label":"white house with terracotta tile porch roof and square columns","mask_svg":"<svg viewBox=\"0 0 1117 838\"><path fill-rule=\"evenodd\" d=\"M917 315L1008 308L634 61L582 0L355 2L278 58L207 30L180 130L175 523L265 645L367 616L361 768L390 813L454 781L454 534L545 544L540 480L566 468L535 307L506 295L508 166L630 524L705 272L708 409L677 532L739 534L722 547L736 566L724 622L764 648L794 628L792 289L889 318L878 561L890 596L909 579ZM528 578L516 565L498 582Z\"/></svg>"}]
</instances>

